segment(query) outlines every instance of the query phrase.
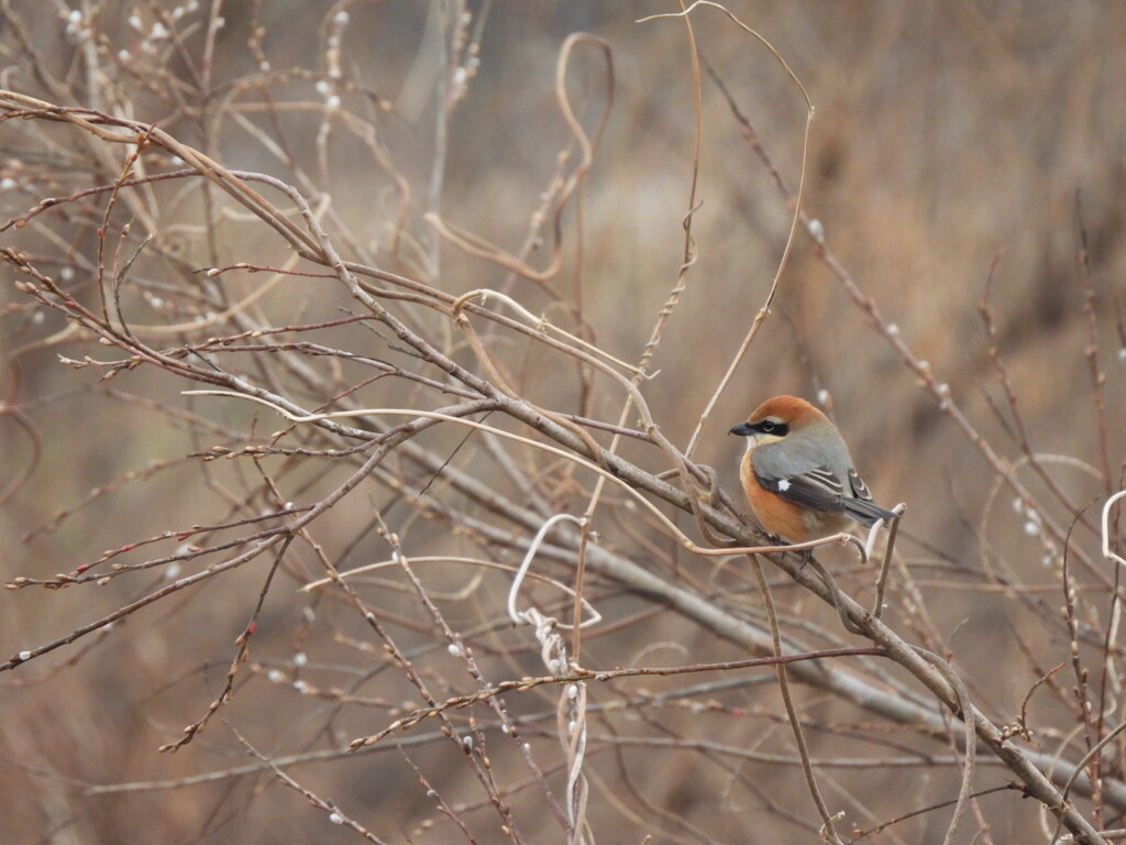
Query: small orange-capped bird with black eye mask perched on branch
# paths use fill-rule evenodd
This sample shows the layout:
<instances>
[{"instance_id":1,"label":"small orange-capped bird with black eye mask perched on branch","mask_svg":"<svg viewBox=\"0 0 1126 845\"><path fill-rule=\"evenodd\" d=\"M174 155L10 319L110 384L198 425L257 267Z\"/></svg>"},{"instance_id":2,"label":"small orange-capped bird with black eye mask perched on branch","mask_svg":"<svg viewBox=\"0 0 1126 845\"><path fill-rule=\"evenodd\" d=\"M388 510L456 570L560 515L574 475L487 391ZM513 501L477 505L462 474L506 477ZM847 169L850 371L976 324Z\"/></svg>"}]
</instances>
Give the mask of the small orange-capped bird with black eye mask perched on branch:
<instances>
[{"instance_id":1,"label":"small orange-capped bird with black eye mask perched on branch","mask_svg":"<svg viewBox=\"0 0 1126 845\"><path fill-rule=\"evenodd\" d=\"M768 533L805 543L897 518L873 502L840 433L804 399L768 399L731 434L747 437L739 475Z\"/></svg>"}]
</instances>

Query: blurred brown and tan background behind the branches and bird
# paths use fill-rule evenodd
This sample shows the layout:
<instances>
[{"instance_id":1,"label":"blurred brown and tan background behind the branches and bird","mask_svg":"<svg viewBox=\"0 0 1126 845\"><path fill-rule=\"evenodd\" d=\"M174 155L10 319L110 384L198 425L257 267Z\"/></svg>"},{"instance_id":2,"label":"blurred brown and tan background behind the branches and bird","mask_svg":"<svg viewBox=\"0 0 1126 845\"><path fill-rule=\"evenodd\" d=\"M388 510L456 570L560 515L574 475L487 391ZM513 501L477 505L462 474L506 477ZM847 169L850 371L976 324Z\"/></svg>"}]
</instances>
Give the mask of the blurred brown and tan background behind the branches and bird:
<instances>
[{"instance_id":1,"label":"blurred brown and tan background behind the branches and bird","mask_svg":"<svg viewBox=\"0 0 1126 845\"><path fill-rule=\"evenodd\" d=\"M785 59L815 108L805 213L820 222L832 255L882 318L949 385L974 434L967 435L919 389L917 374L873 330L816 244L799 231L771 313L694 456L714 466L723 487L739 498L742 444L727 436L727 428L778 393L820 398L849 439L877 500L909 506L900 548L917 579L918 593L909 598L924 603L928 624L973 678L983 709L1011 720L1037 678L1069 659L1067 631L1046 621L1055 619L1063 602L1063 548L1045 540L1039 522L1069 525L1093 504L1087 512L1093 525L1100 497L1121 486L1126 7L864 0L738 1L727 8ZM269 174L296 186L311 205L324 203L331 211L322 224L346 259L454 295L479 287L509 290L533 313L636 363L676 285L690 203L697 127L686 28L674 18L641 20L673 11L670 3L592 0L488 6L437 0L184 6L163 0L136 6L14 0L2 11L6 66L0 82L59 105L157 123L227 168ZM462 15L467 16L464 21ZM691 21L701 61L753 126L780 179L796 192L807 114L801 91L760 42L717 9L699 8ZM458 32L461 47L454 41ZM564 41L580 32L602 39L613 56L608 121L583 188L563 215L557 273L544 284L512 278L495 263L439 238L426 215L440 215L449 226L520 252L545 193L555 190L561 151L572 144L555 78ZM466 46L474 43L475 48ZM459 48L467 52L457 53ZM463 73L454 72L450 55L465 60ZM605 55L596 44L574 47L566 90L582 126L593 133L607 105ZM691 215L695 263L654 353L651 370L659 374L642 388L661 432L681 448L766 301L793 213L707 74L701 92L699 184ZM63 126L32 131L12 119L0 125L5 219L25 214L43 197L105 185L119 175L123 151L99 159L77 137ZM572 149L564 171L577 160ZM152 171L175 166L167 157L158 164L155 154L149 162ZM436 172L443 175L440 181ZM238 208L215 212L211 204L216 201L205 192L171 181L148 192L144 204L159 210L155 225L162 235L159 255L154 248L137 268L162 278L169 291L162 299L153 283L144 297L129 301L136 321L175 324L187 319L187 311L168 312L164 300L173 300L177 285L199 269L235 261L280 266L289 258L260 221ZM574 213L580 201L581 231ZM119 202L118 222L136 219L138 212ZM72 203L57 216L7 229L0 246L34 252L63 282L73 278L92 297L93 229L104 211L104 197ZM548 225L528 263L546 267L551 244ZM3 386L8 408L18 407L26 422L10 412L0 419L0 487L14 483L35 462L32 477L0 510L5 580L51 578L96 560L104 550L222 522L222 508L204 502L236 496L232 490L251 483L245 477L253 472L213 470L185 456L226 442L234 428L253 427L266 437L278 427L277 419L252 417L250 409L233 403L186 402L178 393L191 385L152 368L99 384L102 373L96 368L60 366L59 355L113 356L96 343L60 344L65 322L32 308L11 284L17 274L10 267L3 274ZM179 282L176 274L182 274ZM981 310L991 274L988 310L994 339ZM564 302L581 302L581 323ZM276 324L339 318L341 306L354 304L325 279L287 281L262 304ZM418 319L438 330L438 321ZM176 337L164 343L175 346ZM327 337L358 350L386 348L385 339L355 328ZM522 339L506 343L498 341L498 356L513 383L535 401L617 420L620 392L604 384L583 409L573 366L561 366L557 357ZM999 382L993 346L1002 356L1019 419ZM461 354L459 359L470 361L464 349ZM1092 389L1092 367L1105 376L1098 391ZM394 395L378 401L395 407ZM402 395L410 393L404 389ZM212 428L177 420L159 410L161 403L187 408L211 420ZM1030 450L1046 455L1051 484L1072 506L1062 505L1048 492L1049 482L1029 469L1021 430ZM454 434L449 443L464 435ZM1012 493L1001 490L978 437L1044 498L1043 516L1013 507ZM636 444L627 444L624 453L654 471L665 469L660 455ZM240 472L245 473L241 481ZM300 501L309 498L298 495L302 483L310 489L324 483L315 472L307 478L296 472L291 481L296 492L286 493ZM393 489L384 487L327 515L319 526L330 553L352 544L355 553L341 561L385 558L385 548L364 545L375 541L361 542L357 526L367 525L365 512L390 510L394 498ZM581 508L582 497L577 500ZM428 534L437 530L426 525L411 534L411 513L401 507L387 517L394 531L411 537L409 551L459 549L445 535ZM686 531L691 527L688 517L678 518ZM600 530L618 553L640 562L658 554L628 532L613 525ZM712 561L678 555L670 541L654 539L647 528L638 533L676 558L696 582L745 589L742 577L716 573ZM1076 550L1092 554L1098 536L1080 525L1074 542ZM840 561L851 577L855 568L847 558ZM1009 582L1024 585L1020 596L995 587L1003 580L994 577L999 571ZM357 669L381 646L361 641L355 620L345 619L343 603L324 599L322 607L296 594L302 578L289 576L266 602L253 665L242 670L241 677L250 678L247 688L221 711L222 719L175 756L157 749L175 741L223 690L233 640L262 587L260 566L213 579L199 592L172 595L111 630L0 676L7 717L0 728L0 801L8 808L10 840L358 838L330 825L269 770L256 768L254 758L233 738L235 731L275 759L306 755L301 766L287 771L309 789L331 795L383 840L466 838L436 809L428 790L455 807L477 842L508 839L490 809L488 790L468 766L449 763L449 748L435 738L432 720L366 755L333 753L356 736L385 727L399 712L395 708L409 710L419 702L346 706L336 694L318 697L307 687L293 687L288 682L301 677L307 660L320 661L325 674L340 661L349 666L346 675L356 676L349 690L357 696L386 695L383 690L365 692L359 676L368 683L368 669ZM159 588L168 577L142 571L102 589L5 592L0 655L64 637ZM457 567L437 566L428 586L454 594L468 577ZM1116 573L1103 571L1102 577ZM506 579L484 578L485 587L468 606L449 599L452 619L459 624L492 619L489 603L503 601ZM1103 589L1090 572L1078 578L1081 592L1090 585ZM395 589L403 588L401 580ZM778 589L780 601L796 602L790 607L794 624L807 612L832 628L831 611L802 604L786 585ZM401 594L399 607L399 594L387 588L384 595L388 613L409 617L418 612L409 590ZM640 597L609 589L604 597L600 610L610 624L605 633L592 633L583 651L587 665L680 665L745 656L660 608L661 625L643 624L641 617L653 607ZM752 592L747 601L753 604ZM1102 594L1092 599L1084 623L1101 630L1107 604ZM435 631L425 625L412 630L410 619L395 624L403 642L415 649L412 653L426 656L420 661L432 660L427 671L440 690L437 697L457 694L459 687L447 688L444 679L467 678ZM902 630L912 638L910 619ZM544 673L536 649L525 640L500 623L482 635L476 647L494 679ZM1117 648L1112 638L1110 646ZM271 677L271 669L283 675ZM674 692L695 683L690 676L644 681L592 695L602 695L599 706L609 706L617 695ZM1074 683L1061 681L1058 699L1044 694L1034 701L1040 750L1070 741L1065 738L1075 726L1064 700ZM318 688L341 684L310 682ZM674 764L656 744L658 738L672 741L699 730L699 737L742 749L759 742L784 746L788 733L776 717L772 684L768 671L756 683L716 692L707 699L714 705L704 708L704 717L699 709L668 703L638 709L616 723L592 724L605 744L592 749L587 764L596 838L815 842L815 831L790 818L815 819L798 770L706 754L697 759L683 748ZM558 786L560 771L551 763L558 755L554 696L545 692L507 702L513 718L527 720L521 731ZM811 720L839 718L838 727L846 726L841 731L847 732L861 718L858 711L842 714L825 697L810 694L804 700ZM486 717L482 711L481 718ZM609 736L628 731L644 735L652 747L642 747L641 740L637 747L616 745ZM918 747L936 755L948 751L944 741ZM815 753L850 751L840 736L831 735L819 739ZM511 790L524 840L562 840L543 793L520 768L519 754L500 744L494 755L494 774ZM765 774L749 784L744 766L751 765L762 765ZM248 766L250 774L241 772ZM858 828L953 799L957 789L956 771L935 774L933 781L928 770L876 765L855 780L847 770L826 771L834 784L831 803L847 804L849 822ZM977 785L1003 784L1004 774L994 770L991 775L983 766ZM756 786L760 777L774 779L775 789L793 798L767 800ZM997 842L1029 840L1039 829L1017 793L983 802ZM870 808L872 816L858 807ZM903 836L905 842L938 842L947 818L931 813L911 822L914 827L870 840ZM972 828L966 828L965 842L972 840Z\"/></svg>"}]
</instances>

